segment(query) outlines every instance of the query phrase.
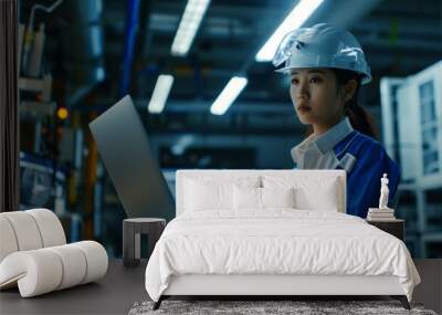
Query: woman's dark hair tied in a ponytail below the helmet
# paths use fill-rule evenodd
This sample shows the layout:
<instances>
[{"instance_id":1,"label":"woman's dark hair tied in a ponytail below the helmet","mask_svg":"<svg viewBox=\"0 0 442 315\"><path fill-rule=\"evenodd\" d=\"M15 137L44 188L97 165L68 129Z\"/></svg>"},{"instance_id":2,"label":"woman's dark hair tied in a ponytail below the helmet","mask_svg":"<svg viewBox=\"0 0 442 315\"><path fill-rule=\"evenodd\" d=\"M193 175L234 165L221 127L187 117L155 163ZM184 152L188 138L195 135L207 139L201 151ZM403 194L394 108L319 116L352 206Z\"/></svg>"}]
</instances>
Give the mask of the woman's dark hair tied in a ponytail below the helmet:
<instances>
[{"instance_id":1,"label":"woman's dark hair tied in a ponytail below the helmet","mask_svg":"<svg viewBox=\"0 0 442 315\"><path fill-rule=\"evenodd\" d=\"M362 75L360 75L354 71L350 71L350 70L332 69L332 71L336 75L337 91L339 91L350 80L356 80L356 82L358 83L355 94L344 105L344 115L348 116L354 129L356 129L359 133L362 133L369 137L377 139L378 130L376 128L376 125L375 125L375 122L373 122L371 115L368 114L367 111L364 109L358 104L358 95L359 95L359 88L360 88L361 81L362 81ZM308 126L307 135L311 135L312 133L313 133L313 128L312 128L312 126Z\"/></svg>"}]
</instances>

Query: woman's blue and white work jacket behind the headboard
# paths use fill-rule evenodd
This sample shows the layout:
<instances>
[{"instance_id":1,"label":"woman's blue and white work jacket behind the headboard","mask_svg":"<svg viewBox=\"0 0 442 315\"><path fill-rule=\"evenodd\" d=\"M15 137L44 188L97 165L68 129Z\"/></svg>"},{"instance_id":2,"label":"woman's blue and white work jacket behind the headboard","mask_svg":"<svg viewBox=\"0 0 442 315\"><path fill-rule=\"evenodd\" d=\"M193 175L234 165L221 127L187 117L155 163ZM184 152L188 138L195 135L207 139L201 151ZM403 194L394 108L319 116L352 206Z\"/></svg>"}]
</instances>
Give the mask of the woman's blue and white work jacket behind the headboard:
<instances>
[{"instance_id":1,"label":"woman's blue and white work jacket behind the headboard","mask_svg":"<svg viewBox=\"0 0 442 315\"><path fill-rule=\"evenodd\" d=\"M347 172L347 213L366 218L368 208L378 208L380 179L389 178L389 202L397 203L400 180L398 165L383 146L351 127L348 117L319 137L311 135L291 150L295 168L345 169Z\"/></svg>"}]
</instances>

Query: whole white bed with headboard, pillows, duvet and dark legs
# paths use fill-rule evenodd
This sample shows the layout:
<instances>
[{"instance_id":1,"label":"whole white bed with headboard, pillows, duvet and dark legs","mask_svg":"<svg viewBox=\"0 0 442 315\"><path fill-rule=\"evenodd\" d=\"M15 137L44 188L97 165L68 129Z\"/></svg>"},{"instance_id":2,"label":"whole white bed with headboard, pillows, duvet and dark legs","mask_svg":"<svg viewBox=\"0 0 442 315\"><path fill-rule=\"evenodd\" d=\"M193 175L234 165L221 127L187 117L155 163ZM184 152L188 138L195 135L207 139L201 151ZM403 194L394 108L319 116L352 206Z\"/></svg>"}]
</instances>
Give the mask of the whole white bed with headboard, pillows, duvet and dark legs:
<instances>
[{"instance_id":1,"label":"whole white bed with headboard, pillows, duvet and dark legs","mask_svg":"<svg viewBox=\"0 0 442 315\"><path fill-rule=\"evenodd\" d=\"M295 209L236 209L238 201L230 209L222 189L189 191L196 181L308 191L295 195ZM411 256L397 238L345 214L344 170L180 170L176 183L177 218L146 269L155 308L171 295L390 295L409 307L420 282ZM219 208L206 209L210 199ZM330 209L307 210L312 204Z\"/></svg>"}]
</instances>

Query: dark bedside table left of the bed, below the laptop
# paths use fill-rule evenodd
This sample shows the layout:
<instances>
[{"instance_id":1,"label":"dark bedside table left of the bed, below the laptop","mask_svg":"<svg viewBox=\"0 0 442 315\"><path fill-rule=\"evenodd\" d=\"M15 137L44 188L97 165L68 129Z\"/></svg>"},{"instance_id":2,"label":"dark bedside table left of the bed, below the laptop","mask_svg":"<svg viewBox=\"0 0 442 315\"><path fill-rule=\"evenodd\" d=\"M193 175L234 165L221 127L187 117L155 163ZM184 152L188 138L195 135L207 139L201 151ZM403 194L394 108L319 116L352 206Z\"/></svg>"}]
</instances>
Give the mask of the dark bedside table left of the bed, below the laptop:
<instances>
[{"instance_id":1,"label":"dark bedside table left of the bed, below the laptop","mask_svg":"<svg viewBox=\"0 0 442 315\"><path fill-rule=\"evenodd\" d=\"M123 221L123 264L136 266L140 260L140 234L148 235L148 258L161 237L166 220L159 218L134 218Z\"/></svg>"}]
</instances>

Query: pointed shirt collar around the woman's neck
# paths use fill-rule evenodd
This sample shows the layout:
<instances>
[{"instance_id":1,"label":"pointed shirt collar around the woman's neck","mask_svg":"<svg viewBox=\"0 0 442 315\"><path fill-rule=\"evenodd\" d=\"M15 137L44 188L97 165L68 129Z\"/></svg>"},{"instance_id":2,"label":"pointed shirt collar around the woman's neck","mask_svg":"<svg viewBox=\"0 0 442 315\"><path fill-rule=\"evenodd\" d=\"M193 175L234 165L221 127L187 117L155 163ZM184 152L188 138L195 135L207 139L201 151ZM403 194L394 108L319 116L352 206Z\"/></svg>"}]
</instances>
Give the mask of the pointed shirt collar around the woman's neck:
<instances>
[{"instance_id":1,"label":"pointed shirt collar around the woman's neck","mask_svg":"<svg viewBox=\"0 0 442 315\"><path fill-rule=\"evenodd\" d=\"M345 117L338 124L333 126L329 130L320 136L315 136L314 134L309 135L305 140L301 144L292 148L292 157L296 161L296 153L304 151L312 144L316 145L322 154L333 149L339 141L341 141L345 137L347 137L354 128L351 127L350 119Z\"/></svg>"}]
</instances>

